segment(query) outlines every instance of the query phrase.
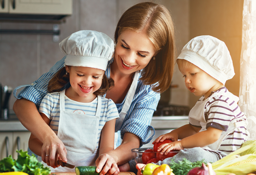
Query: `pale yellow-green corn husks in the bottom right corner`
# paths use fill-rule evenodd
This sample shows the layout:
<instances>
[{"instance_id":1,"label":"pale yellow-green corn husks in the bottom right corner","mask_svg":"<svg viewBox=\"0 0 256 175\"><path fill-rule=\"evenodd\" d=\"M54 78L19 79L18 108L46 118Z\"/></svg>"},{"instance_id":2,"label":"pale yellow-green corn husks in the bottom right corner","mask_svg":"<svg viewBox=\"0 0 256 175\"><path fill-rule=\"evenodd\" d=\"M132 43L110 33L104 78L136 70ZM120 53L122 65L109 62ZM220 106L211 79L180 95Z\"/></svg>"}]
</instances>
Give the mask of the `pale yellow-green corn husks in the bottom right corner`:
<instances>
[{"instance_id":1,"label":"pale yellow-green corn husks in the bottom right corner","mask_svg":"<svg viewBox=\"0 0 256 175\"><path fill-rule=\"evenodd\" d=\"M234 173L236 175L247 175L249 173L256 171L256 154L246 154L241 155L242 152L248 150L253 150L255 144L249 143L245 144L243 147L238 150L230 153L224 158L212 163L212 169L216 175L227 175L229 173Z\"/></svg>"}]
</instances>

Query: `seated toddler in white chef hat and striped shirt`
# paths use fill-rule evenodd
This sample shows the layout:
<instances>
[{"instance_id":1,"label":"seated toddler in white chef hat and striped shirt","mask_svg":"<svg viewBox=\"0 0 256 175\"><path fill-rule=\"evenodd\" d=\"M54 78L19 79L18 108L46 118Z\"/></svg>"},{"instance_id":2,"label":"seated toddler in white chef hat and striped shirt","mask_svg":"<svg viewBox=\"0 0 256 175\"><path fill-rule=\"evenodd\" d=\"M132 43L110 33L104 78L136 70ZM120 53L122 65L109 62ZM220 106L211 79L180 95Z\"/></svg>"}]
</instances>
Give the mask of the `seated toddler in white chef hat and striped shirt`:
<instances>
[{"instance_id":1,"label":"seated toddler in white chef hat and striped shirt","mask_svg":"<svg viewBox=\"0 0 256 175\"><path fill-rule=\"evenodd\" d=\"M224 86L235 75L229 50L217 38L198 36L184 46L176 62L187 89L202 97L191 109L188 125L159 136L153 144L173 140L159 146L158 151L180 150L173 157L175 162L183 158L215 162L249 138L247 118L237 104L239 98ZM158 164L168 164L171 159Z\"/></svg>"}]
</instances>

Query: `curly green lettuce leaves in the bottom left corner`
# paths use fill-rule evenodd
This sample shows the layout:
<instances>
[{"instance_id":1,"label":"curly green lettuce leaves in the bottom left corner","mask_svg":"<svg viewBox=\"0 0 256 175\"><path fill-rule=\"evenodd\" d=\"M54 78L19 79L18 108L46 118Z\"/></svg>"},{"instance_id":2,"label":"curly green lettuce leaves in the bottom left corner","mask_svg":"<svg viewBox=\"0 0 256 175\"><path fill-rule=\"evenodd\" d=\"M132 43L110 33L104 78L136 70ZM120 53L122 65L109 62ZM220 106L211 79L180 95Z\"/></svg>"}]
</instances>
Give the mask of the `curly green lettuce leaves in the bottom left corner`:
<instances>
[{"instance_id":1,"label":"curly green lettuce leaves in the bottom left corner","mask_svg":"<svg viewBox=\"0 0 256 175\"><path fill-rule=\"evenodd\" d=\"M0 160L0 172L19 171L28 175L49 175L50 168L44 167L41 162L37 161L35 155L28 155L27 151L17 150L19 153L17 160L10 155Z\"/></svg>"}]
</instances>

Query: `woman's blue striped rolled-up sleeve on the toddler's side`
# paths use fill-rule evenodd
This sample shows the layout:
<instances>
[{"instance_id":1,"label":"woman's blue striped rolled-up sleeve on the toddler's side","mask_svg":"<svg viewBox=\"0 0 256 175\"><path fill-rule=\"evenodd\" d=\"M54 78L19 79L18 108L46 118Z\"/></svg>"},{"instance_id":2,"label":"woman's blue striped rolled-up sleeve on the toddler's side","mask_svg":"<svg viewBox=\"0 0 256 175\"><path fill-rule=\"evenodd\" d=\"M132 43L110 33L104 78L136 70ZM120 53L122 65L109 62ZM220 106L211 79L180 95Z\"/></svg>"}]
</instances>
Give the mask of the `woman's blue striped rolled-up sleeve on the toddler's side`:
<instances>
[{"instance_id":1,"label":"woman's blue striped rolled-up sleeve on the toddler's side","mask_svg":"<svg viewBox=\"0 0 256 175\"><path fill-rule=\"evenodd\" d=\"M134 101L135 104L128 110L126 119L121 127L121 138L126 132L133 133L140 138L141 144L146 144L155 135L155 130L150 123L160 100L160 93L151 90L140 94L138 99ZM154 131L152 135L151 129Z\"/></svg>"}]
</instances>

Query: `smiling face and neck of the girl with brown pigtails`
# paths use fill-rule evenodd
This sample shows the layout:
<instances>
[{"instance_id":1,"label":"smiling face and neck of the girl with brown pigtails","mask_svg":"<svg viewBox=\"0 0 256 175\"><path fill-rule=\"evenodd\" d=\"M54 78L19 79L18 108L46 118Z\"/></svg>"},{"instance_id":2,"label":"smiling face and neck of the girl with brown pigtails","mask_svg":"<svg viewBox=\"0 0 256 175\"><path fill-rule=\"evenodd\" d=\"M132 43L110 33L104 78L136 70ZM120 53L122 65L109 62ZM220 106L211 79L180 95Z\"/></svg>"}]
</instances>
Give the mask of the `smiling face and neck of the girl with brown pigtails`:
<instances>
[{"instance_id":1,"label":"smiling face and neck of the girl with brown pigtails","mask_svg":"<svg viewBox=\"0 0 256 175\"><path fill-rule=\"evenodd\" d=\"M104 71L91 67L66 66L71 87L69 98L80 102L91 102L96 95L93 92L101 87Z\"/></svg>"}]
</instances>

